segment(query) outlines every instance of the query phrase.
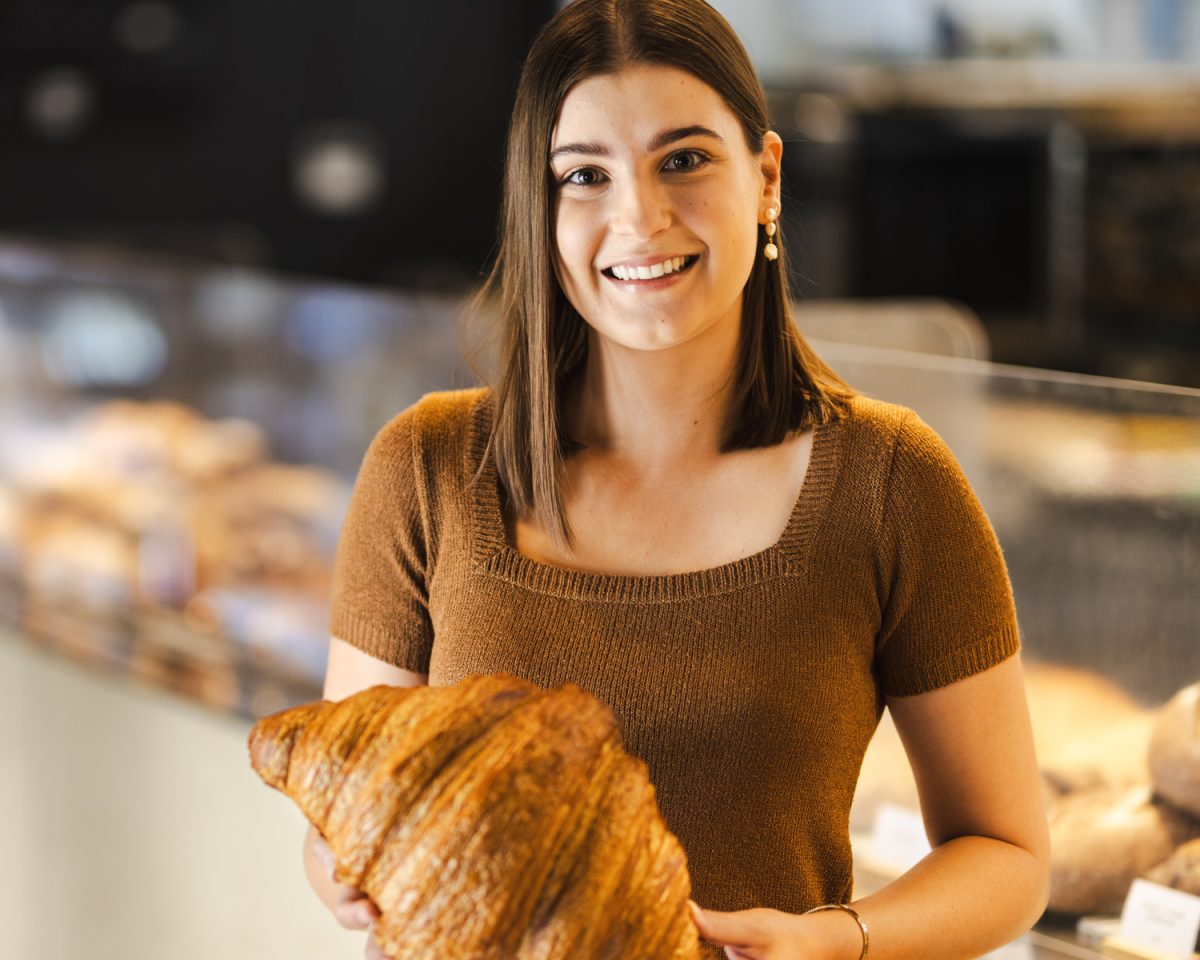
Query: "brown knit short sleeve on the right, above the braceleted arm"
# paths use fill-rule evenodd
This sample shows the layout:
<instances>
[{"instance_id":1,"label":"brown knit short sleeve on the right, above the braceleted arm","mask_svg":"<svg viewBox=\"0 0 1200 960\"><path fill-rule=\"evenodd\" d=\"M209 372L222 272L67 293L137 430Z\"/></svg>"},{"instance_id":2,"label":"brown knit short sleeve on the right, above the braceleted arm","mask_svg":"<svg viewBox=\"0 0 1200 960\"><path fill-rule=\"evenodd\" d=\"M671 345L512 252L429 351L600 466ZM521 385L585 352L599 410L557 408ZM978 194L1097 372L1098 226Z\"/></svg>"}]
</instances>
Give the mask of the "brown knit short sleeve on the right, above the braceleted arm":
<instances>
[{"instance_id":1,"label":"brown knit short sleeve on the right, above the braceleted arm","mask_svg":"<svg viewBox=\"0 0 1200 960\"><path fill-rule=\"evenodd\" d=\"M996 534L949 448L911 412L895 438L880 547L876 671L886 695L934 690L1016 653Z\"/></svg>"}]
</instances>

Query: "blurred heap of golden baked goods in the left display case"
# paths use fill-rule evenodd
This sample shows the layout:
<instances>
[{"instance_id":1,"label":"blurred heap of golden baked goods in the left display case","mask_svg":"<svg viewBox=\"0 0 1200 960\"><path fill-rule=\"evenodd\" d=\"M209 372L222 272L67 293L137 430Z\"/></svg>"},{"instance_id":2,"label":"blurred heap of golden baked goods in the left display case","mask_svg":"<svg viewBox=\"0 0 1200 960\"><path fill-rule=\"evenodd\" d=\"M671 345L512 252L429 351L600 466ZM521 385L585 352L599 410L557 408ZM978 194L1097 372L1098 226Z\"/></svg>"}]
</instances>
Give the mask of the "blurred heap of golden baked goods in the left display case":
<instances>
[{"instance_id":1,"label":"blurred heap of golden baked goods in the left display case","mask_svg":"<svg viewBox=\"0 0 1200 960\"><path fill-rule=\"evenodd\" d=\"M302 672L308 696L348 499L328 469L272 462L257 425L172 401L18 425L0 434L0 584L17 598L0 616L74 656L167 670L215 706L251 700L230 683L246 674L235 660L287 648L284 672ZM301 642L292 624L281 632L282 607L307 618Z\"/></svg>"}]
</instances>

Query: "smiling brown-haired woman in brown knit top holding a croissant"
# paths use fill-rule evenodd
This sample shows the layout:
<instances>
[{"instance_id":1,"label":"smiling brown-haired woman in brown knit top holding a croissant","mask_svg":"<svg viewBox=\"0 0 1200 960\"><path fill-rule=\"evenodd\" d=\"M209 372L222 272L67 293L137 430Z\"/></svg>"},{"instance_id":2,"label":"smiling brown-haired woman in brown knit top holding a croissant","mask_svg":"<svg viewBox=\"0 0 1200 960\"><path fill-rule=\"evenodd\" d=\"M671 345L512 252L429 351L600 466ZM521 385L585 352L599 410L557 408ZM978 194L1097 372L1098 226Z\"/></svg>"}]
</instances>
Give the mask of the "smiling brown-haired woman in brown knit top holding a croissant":
<instances>
[{"instance_id":1,"label":"smiling brown-haired woman in brown knit top holding a croissant","mask_svg":"<svg viewBox=\"0 0 1200 960\"><path fill-rule=\"evenodd\" d=\"M728 956L974 956L1044 905L1008 578L936 434L794 332L781 154L702 0L578 0L542 30L488 288L499 380L372 444L325 695L578 683L647 761ZM884 703L934 852L847 905ZM371 923L316 835L306 863L343 924Z\"/></svg>"}]
</instances>

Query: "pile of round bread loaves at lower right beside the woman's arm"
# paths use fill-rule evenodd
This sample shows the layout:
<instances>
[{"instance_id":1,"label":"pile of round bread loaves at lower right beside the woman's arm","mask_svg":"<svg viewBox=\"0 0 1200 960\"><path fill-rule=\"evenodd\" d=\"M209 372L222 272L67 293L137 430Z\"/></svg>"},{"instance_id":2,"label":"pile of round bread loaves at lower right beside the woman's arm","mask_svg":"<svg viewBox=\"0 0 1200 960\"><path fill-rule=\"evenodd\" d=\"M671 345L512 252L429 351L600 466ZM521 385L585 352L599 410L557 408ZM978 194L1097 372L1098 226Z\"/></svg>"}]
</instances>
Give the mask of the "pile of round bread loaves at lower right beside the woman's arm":
<instances>
[{"instance_id":1,"label":"pile of round bread loaves at lower right beside the woman's arm","mask_svg":"<svg viewBox=\"0 0 1200 960\"><path fill-rule=\"evenodd\" d=\"M1050 820L1050 910L1117 914L1139 876L1200 892L1200 684L1152 710L1091 671L1030 662L1025 679ZM918 805L887 716L863 763L852 828L870 829L881 803Z\"/></svg>"}]
</instances>

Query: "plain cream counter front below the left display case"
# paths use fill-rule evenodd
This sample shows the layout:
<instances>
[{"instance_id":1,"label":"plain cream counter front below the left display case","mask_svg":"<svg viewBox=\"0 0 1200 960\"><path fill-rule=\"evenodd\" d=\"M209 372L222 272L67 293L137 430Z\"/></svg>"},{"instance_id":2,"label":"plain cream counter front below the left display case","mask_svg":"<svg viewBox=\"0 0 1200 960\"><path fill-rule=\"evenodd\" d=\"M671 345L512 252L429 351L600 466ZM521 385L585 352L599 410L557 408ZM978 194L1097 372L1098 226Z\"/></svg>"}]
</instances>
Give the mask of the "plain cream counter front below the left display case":
<instances>
[{"instance_id":1,"label":"plain cream counter front below the left display case","mask_svg":"<svg viewBox=\"0 0 1200 960\"><path fill-rule=\"evenodd\" d=\"M250 722L0 625L0 956L352 960Z\"/></svg>"}]
</instances>

